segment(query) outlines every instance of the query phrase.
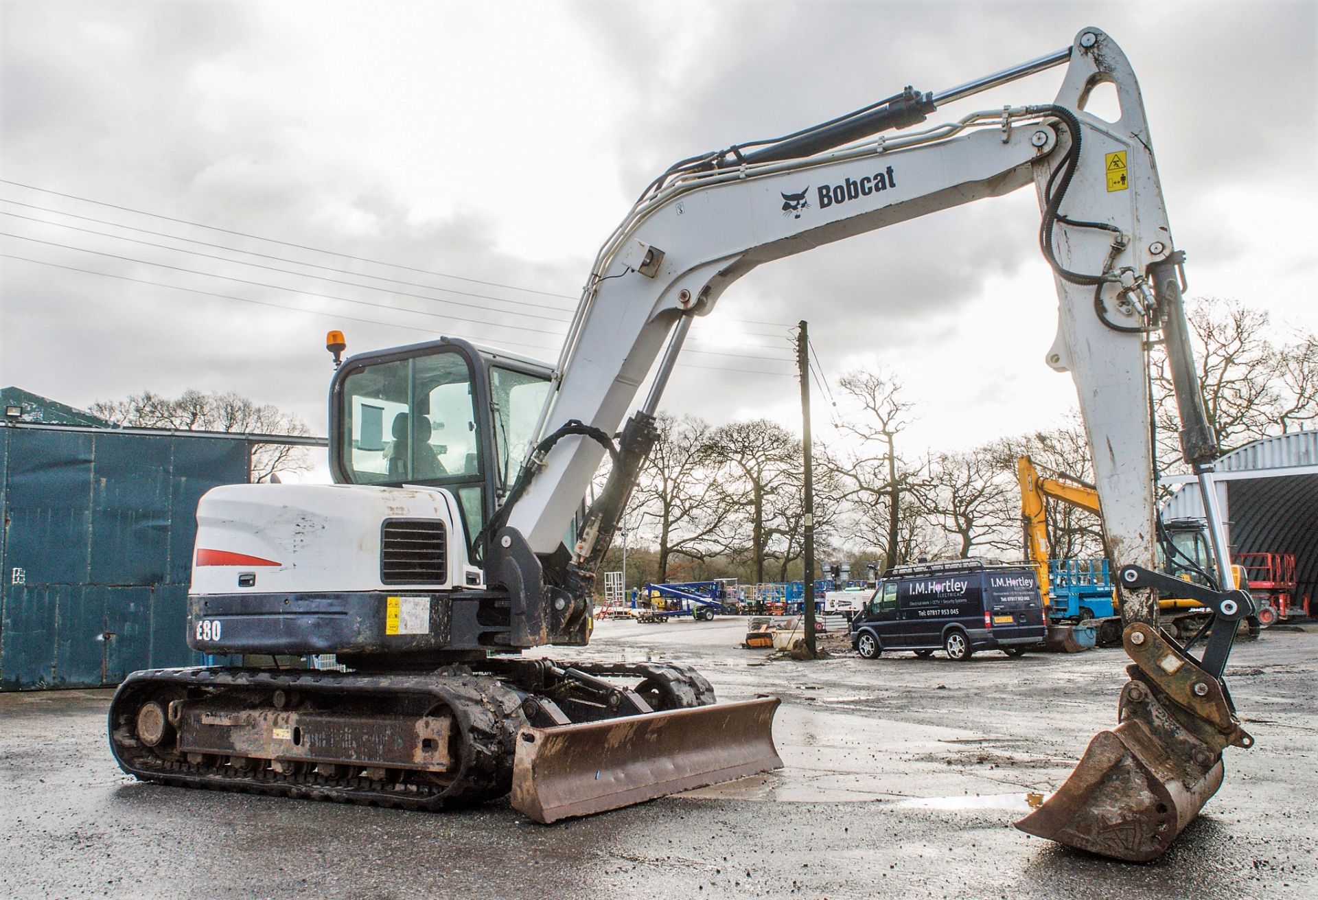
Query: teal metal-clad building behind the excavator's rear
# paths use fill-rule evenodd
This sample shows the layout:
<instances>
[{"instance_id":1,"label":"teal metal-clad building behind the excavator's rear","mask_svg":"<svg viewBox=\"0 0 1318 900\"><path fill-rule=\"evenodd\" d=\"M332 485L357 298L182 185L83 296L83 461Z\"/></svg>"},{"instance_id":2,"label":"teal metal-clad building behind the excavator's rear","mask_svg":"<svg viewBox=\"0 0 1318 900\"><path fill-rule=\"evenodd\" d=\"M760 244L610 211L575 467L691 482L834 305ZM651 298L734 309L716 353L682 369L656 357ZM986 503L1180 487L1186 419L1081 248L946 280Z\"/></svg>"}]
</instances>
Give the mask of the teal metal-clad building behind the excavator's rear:
<instances>
[{"instance_id":1,"label":"teal metal-clad building behind the excavator's rear","mask_svg":"<svg viewBox=\"0 0 1318 900\"><path fill-rule=\"evenodd\" d=\"M196 501L248 468L241 435L0 427L0 689L199 661L185 642Z\"/></svg>"}]
</instances>

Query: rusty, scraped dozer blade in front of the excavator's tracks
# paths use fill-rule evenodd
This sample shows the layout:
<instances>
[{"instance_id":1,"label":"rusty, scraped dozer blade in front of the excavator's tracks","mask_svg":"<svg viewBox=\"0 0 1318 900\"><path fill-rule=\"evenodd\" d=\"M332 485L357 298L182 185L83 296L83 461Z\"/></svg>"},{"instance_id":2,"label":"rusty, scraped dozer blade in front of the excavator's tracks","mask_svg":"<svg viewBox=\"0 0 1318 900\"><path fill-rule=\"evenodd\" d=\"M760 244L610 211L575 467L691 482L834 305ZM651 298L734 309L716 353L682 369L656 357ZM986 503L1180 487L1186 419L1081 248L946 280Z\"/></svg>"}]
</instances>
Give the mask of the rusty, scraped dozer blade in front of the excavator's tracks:
<instances>
[{"instance_id":1,"label":"rusty, scraped dozer blade in front of the excavator's tracks","mask_svg":"<svg viewBox=\"0 0 1318 900\"><path fill-rule=\"evenodd\" d=\"M589 816L780 768L778 697L525 727L513 762L513 808L538 822Z\"/></svg>"}]
</instances>

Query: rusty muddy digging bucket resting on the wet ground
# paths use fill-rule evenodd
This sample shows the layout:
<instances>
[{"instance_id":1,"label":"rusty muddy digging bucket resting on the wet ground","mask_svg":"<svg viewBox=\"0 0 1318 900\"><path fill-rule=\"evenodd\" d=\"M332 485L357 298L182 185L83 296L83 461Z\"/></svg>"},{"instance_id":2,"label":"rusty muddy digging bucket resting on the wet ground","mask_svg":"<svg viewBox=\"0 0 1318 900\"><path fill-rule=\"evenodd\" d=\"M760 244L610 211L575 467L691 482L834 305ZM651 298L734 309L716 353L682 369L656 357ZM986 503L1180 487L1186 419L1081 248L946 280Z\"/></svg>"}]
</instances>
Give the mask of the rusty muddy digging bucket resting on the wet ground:
<instances>
[{"instance_id":1,"label":"rusty muddy digging bucket resting on the wet ground","mask_svg":"<svg viewBox=\"0 0 1318 900\"><path fill-rule=\"evenodd\" d=\"M1160 857L1222 785L1222 759L1186 787L1185 768L1149 729L1099 733L1066 783L1016 828L1069 847L1147 862Z\"/></svg>"}]
</instances>

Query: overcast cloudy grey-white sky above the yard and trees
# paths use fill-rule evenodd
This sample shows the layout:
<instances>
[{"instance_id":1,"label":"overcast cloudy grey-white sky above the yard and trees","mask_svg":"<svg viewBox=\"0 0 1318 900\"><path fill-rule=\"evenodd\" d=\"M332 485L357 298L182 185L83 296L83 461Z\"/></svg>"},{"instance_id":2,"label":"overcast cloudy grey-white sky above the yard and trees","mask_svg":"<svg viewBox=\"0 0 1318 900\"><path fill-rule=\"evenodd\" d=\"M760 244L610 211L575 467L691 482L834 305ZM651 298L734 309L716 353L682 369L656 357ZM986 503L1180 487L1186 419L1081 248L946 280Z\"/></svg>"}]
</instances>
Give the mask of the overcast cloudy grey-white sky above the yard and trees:
<instances>
[{"instance_id":1,"label":"overcast cloudy grey-white sky above the yard and trees","mask_svg":"<svg viewBox=\"0 0 1318 900\"><path fill-rule=\"evenodd\" d=\"M0 253L22 257L0 258L0 385L75 406L236 390L324 434L323 336L336 327L349 352L444 333L552 360L596 249L668 163L905 84L960 84L1068 46L1085 25L1111 33L1140 76L1191 295L1318 329L1307 0L0 9L0 178L17 182L0 183L0 232L16 236ZM934 120L1049 101L1060 72ZM904 380L920 448L1056 424L1074 391L1043 364L1056 294L1037 223L1033 192L1019 191L763 266L696 325L663 406L797 428L788 327L807 318L834 390L859 365ZM202 242L302 274L198 256L237 256Z\"/></svg>"}]
</instances>

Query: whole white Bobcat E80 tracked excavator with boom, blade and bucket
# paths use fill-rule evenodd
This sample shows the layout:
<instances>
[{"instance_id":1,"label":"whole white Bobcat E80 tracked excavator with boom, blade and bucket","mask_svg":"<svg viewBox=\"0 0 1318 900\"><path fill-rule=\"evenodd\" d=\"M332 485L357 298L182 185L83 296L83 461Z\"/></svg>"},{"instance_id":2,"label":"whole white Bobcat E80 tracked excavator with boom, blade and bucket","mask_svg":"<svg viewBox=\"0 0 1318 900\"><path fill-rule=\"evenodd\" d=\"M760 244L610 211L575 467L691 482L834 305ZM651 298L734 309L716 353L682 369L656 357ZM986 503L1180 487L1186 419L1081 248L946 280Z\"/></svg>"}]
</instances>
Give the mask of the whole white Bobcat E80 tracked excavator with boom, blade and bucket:
<instances>
[{"instance_id":1,"label":"whole white Bobcat E80 tracked excavator with boom, blade and bucket","mask_svg":"<svg viewBox=\"0 0 1318 900\"><path fill-rule=\"evenodd\" d=\"M946 103L1062 65L1052 103L917 128ZM1120 101L1114 123L1085 112L1102 83ZM714 704L681 665L522 651L587 643L594 575L683 340L737 278L1029 183L1058 293L1046 361L1075 380L1133 664L1120 723L1019 826L1120 859L1157 857L1222 783L1223 748L1251 743L1222 681L1251 601L1227 568L1227 590L1195 588L1218 618L1198 658L1157 627L1169 578L1155 571L1145 353L1159 333L1185 459L1205 485L1217 448L1139 87L1095 28L948 91L908 87L673 165L601 248L554 366L448 337L345 360L330 391L337 484L236 485L202 499L188 643L248 659L335 654L348 671L136 672L109 710L119 764L163 784L413 809L511 793L542 822L780 766L776 698ZM875 258L879 287L883 266L899 264ZM341 337L331 351L337 360ZM605 453L608 482L579 515ZM1215 494L1205 501L1220 561Z\"/></svg>"}]
</instances>

